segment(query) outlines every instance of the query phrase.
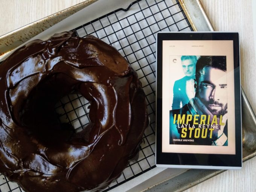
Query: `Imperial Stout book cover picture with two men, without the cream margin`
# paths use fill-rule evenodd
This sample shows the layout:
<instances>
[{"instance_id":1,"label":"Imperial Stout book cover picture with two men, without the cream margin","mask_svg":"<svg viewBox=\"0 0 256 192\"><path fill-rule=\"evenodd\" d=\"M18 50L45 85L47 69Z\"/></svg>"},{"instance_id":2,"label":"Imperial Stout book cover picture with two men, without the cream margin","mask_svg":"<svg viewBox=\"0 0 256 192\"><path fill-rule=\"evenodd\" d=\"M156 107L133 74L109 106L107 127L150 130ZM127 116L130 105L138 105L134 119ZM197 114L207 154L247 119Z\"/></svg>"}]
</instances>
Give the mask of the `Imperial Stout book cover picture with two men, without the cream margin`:
<instances>
[{"instance_id":1,"label":"Imperial Stout book cover picture with two men, without the cream margin","mask_svg":"<svg viewBox=\"0 0 256 192\"><path fill-rule=\"evenodd\" d=\"M226 56L170 56L170 62L182 69L170 79L170 144L228 146Z\"/></svg>"}]
</instances>

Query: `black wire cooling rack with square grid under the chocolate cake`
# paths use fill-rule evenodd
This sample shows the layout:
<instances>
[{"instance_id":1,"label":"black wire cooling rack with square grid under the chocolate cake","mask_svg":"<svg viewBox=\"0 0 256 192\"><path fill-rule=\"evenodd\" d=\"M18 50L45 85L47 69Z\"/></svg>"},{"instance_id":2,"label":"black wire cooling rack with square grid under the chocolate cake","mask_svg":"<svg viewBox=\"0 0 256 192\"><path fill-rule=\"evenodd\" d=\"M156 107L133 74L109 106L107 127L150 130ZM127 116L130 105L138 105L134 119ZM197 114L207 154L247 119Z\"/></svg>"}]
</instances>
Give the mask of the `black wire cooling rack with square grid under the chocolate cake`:
<instances>
[{"instance_id":1,"label":"black wire cooling rack with square grid under the chocolate cake","mask_svg":"<svg viewBox=\"0 0 256 192\"><path fill-rule=\"evenodd\" d=\"M178 0L137 0L127 9L117 9L74 29L79 37L94 35L114 46L136 70L143 90L151 123L140 145L139 159L130 163L112 183L111 190L155 168L155 50L159 31L192 31ZM81 131L89 122L89 102L79 94L70 94L56 104L62 123ZM22 192L16 184L0 175L0 192Z\"/></svg>"}]
</instances>

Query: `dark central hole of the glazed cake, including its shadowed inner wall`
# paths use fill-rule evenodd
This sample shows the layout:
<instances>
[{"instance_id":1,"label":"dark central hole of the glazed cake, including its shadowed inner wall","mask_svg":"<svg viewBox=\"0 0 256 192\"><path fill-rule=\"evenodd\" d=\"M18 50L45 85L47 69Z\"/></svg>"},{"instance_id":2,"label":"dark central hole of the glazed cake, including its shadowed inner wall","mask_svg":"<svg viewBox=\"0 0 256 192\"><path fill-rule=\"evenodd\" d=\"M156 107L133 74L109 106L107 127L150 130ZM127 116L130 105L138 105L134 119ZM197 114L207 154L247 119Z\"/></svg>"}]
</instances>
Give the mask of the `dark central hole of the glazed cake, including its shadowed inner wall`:
<instances>
[{"instance_id":1,"label":"dark central hole of the glazed cake, including its shadowed inner wall","mask_svg":"<svg viewBox=\"0 0 256 192\"><path fill-rule=\"evenodd\" d=\"M90 122L90 102L77 91L81 83L61 73L46 78L21 106L19 124L40 140L70 140Z\"/></svg>"}]
</instances>

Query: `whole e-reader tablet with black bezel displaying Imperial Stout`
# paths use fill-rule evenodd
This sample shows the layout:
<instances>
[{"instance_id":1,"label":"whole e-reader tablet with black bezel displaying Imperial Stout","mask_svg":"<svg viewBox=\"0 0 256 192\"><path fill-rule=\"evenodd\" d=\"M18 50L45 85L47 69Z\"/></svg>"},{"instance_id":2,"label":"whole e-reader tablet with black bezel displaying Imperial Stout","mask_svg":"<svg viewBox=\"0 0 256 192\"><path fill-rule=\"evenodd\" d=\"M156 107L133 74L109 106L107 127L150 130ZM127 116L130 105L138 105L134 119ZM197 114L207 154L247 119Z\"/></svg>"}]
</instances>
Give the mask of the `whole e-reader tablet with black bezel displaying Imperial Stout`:
<instances>
[{"instance_id":1,"label":"whole e-reader tablet with black bezel displaying Imperial Stout","mask_svg":"<svg viewBox=\"0 0 256 192\"><path fill-rule=\"evenodd\" d=\"M240 169L237 32L157 33L156 165Z\"/></svg>"}]
</instances>

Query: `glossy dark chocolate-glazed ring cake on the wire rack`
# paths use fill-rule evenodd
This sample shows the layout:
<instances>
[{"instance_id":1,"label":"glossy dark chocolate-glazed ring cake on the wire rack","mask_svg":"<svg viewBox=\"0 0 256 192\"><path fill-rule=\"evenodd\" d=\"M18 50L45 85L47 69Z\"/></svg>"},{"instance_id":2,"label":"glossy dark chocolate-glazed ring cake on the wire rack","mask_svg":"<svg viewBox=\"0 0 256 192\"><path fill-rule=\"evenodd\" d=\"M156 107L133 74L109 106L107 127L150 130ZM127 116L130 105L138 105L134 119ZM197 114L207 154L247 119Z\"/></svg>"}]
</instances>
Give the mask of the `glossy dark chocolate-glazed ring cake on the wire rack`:
<instances>
[{"instance_id":1,"label":"glossy dark chocolate-glazed ring cake on the wire rack","mask_svg":"<svg viewBox=\"0 0 256 192\"><path fill-rule=\"evenodd\" d=\"M90 123L73 134L54 112L72 91L91 104ZM136 72L98 38L55 34L0 65L0 172L26 191L107 187L136 158L147 125Z\"/></svg>"}]
</instances>

